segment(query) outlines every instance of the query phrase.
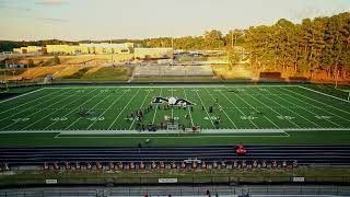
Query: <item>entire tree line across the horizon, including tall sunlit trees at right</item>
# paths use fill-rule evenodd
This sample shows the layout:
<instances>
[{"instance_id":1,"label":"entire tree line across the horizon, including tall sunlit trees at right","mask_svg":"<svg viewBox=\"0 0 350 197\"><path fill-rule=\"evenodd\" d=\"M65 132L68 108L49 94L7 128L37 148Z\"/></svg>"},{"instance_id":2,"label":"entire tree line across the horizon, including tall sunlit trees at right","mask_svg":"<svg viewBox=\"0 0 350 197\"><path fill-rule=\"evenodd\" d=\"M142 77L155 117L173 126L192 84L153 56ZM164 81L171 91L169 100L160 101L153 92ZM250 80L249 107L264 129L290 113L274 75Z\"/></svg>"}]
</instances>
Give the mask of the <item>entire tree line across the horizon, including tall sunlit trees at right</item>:
<instances>
[{"instance_id":1,"label":"entire tree line across the horizon, including tall sunlit trees at right","mask_svg":"<svg viewBox=\"0 0 350 197\"><path fill-rule=\"evenodd\" d=\"M350 13L304 19L294 24L280 19L273 25L250 26L223 34L218 30L202 36L158 37L145 39L113 39L66 42L58 39L38 42L0 40L0 51L21 46L49 44L125 43L142 47L174 47L175 49L226 49L230 62L236 62L233 46L242 46L249 56L252 69L281 71L289 74L306 73L308 77L325 71L329 78L338 73L346 78L350 71Z\"/></svg>"}]
</instances>

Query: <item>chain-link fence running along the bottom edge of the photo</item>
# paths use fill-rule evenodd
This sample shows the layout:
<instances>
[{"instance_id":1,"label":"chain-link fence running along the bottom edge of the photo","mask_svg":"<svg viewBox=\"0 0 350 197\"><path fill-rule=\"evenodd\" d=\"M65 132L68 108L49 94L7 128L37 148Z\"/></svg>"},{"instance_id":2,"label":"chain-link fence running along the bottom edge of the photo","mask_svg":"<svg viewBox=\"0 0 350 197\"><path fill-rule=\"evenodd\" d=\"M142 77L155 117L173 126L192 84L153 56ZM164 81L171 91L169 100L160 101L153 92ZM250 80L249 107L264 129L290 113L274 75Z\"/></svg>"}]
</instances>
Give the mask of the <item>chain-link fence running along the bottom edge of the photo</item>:
<instances>
[{"instance_id":1,"label":"chain-link fence running along the bottom edge of the photo","mask_svg":"<svg viewBox=\"0 0 350 197\"><path fill-rule=\"evenodd\" d=\"M137 187L72 187L16 188L0 190L0 197L113 197L113 196L348 196L349 186L334 185L250 185L250 186L137 186Z\"/></svg>"}]
</instances>

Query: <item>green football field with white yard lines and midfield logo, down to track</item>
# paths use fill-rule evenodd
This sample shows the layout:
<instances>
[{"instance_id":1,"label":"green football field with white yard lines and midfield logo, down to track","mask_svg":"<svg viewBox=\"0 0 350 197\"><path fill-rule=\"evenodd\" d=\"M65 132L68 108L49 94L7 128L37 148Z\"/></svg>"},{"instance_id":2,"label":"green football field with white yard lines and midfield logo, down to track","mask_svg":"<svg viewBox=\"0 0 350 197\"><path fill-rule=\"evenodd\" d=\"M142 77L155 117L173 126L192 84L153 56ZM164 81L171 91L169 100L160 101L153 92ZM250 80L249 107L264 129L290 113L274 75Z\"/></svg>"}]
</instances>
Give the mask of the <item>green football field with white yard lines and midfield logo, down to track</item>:
<instances>
[{"instance_id":1,"label":"green football field with white yard lines and midfield logo, down to track","mask_svg":"<svg viewBox=\"0 0 350 197\"><path fill-rule=\"evenodd\" d=\"M349 101L306 85L46 86L0 102L2 144L266 143L310 135L300 137L305 143L348 132Z\"/></svg>"}]
</instances>

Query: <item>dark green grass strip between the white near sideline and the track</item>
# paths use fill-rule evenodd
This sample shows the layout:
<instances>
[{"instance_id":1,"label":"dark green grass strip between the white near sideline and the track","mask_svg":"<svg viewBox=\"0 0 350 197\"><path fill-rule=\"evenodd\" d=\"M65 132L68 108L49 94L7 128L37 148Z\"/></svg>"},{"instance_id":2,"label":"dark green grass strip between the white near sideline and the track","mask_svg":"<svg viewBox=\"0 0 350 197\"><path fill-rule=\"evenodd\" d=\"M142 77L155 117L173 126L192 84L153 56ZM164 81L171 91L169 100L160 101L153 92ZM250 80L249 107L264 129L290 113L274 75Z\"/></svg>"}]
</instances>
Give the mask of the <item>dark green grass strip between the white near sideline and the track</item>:
<instances>
[{"instance_id":1,"label":"dark green grass strip between the white near sideline and the track","mask_svg":"<svg viewBox=\"0 0 350 197\"><path fill-rule=\"evenodd\" d=\"M211 144L350 144L349 131L298 131L289 132L290 137L273 136L74 136L58 134L1 134L1 147L39 147L39 146L114 146L114 147L137 147L139 143L150 147L167 146L211 146ZM249 137L247 137L249 136ZM165 137L165 138L159 138ZM149 143L145 140L150 139Z\"/></svg>"}]
</instances>

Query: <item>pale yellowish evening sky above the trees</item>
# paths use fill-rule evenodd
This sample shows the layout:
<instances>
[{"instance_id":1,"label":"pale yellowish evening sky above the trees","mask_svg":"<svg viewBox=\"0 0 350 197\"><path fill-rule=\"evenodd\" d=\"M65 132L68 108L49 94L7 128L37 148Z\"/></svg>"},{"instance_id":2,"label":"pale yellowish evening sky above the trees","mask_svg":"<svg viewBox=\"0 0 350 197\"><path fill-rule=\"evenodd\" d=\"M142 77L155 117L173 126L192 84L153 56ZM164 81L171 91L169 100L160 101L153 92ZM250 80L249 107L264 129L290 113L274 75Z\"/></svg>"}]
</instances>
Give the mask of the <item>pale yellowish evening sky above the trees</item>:
<instances>
[{"instance_id":1,"label":"pale yellowish evening sky above the trees","mask_svg":"<svg viewBox=\"0 0 350 197\"><path fill-rule=\"evenodd\" d=\"M0 40L199 36L350 11L350 0L0 0Z\"/></svg>"}]
</instances>

